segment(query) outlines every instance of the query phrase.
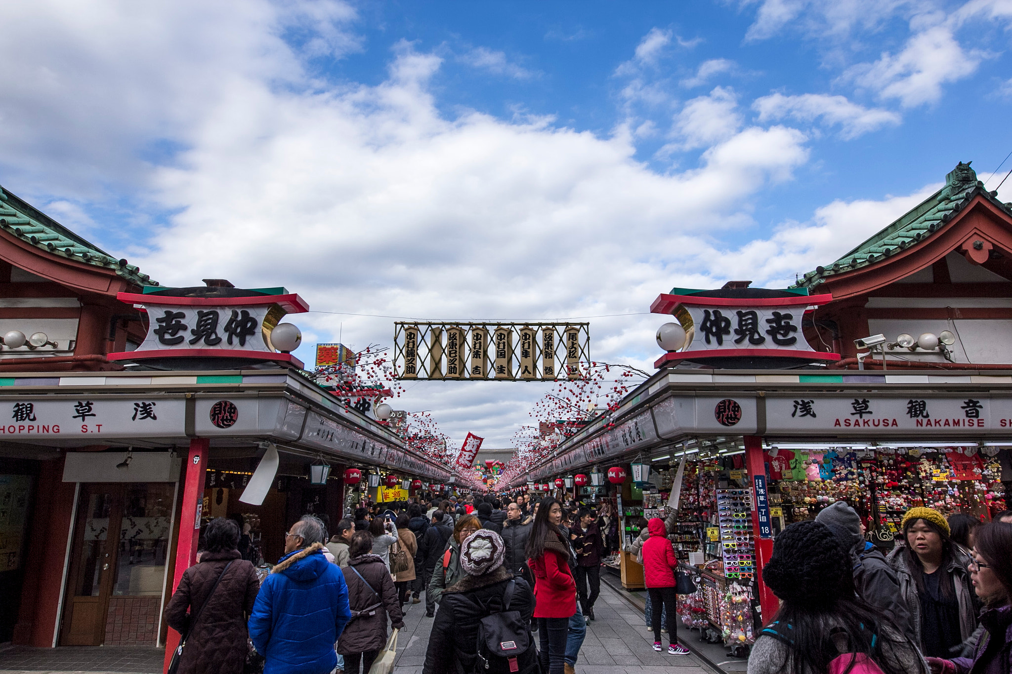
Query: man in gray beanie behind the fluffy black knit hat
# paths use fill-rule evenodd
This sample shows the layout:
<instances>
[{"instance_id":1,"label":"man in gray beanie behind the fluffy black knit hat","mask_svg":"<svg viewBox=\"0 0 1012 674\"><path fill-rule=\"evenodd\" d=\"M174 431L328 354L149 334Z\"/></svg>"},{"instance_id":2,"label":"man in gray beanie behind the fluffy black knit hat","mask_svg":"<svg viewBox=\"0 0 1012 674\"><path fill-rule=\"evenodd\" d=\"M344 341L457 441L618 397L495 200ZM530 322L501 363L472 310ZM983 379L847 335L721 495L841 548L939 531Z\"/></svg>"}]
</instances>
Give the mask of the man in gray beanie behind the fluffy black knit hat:
<instances>
[{"instance_id":1,"label":"man in gray beanie behind the fluffy black knit hat","mask_svg":"<svg viewBox=\"0 0 1012 674\"><path fill-rule=\"evenodd\" d=\"M825 524L840 546L850 551L857 594L887 613L896 627L908 633L908 637L915 639L910 613L900 594L900 580L886 561L886 556L874 544L864 540L864 524L854 508L845 501L837 501L816 515L816 521Z\"/></svg>"}]
</instances>

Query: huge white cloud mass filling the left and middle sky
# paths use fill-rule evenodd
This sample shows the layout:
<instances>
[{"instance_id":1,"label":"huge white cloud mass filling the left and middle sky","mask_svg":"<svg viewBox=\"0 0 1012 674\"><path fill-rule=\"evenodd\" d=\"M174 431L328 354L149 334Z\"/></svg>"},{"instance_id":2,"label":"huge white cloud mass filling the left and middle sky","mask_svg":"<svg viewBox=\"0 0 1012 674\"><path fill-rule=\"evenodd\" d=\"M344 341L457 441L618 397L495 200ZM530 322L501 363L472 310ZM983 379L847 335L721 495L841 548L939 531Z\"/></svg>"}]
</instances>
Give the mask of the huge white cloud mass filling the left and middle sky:
<instances>
[{"instance_id":1,"label":"huge white cloud mass filling the left and middle sky","mask_svg":"<svg viewBox=\"0 0 1012 674\"><path fill-rule=\"evenodd\" d=\"M715 237L747 237L757 195L809 156L796 129L742 128L730 89L683 107L677 139L703 152L661 174L636 159L631 134L447 116L429 84L441 60L407 42L380 84L313 79L317 37L278 39L294 19L273 5L28 6L7 11L0 42L5 187L57 194L45 203L70 202L54 212L72 218L87 206L100 246L122 233L102 205L140 203L137 218L163 224L123 226L133 249L107 248L168 284L284 285L319 311L429 318L644 312L672 285L737 276L710 255ZM333 49L358 43L326 34ZM649 367L661 318L594 319L594 358ZM389 318L292 320L308 345L393 332ZM433 383L397 404L508 436L539 396Z\"/></svg>"}]
</instances>

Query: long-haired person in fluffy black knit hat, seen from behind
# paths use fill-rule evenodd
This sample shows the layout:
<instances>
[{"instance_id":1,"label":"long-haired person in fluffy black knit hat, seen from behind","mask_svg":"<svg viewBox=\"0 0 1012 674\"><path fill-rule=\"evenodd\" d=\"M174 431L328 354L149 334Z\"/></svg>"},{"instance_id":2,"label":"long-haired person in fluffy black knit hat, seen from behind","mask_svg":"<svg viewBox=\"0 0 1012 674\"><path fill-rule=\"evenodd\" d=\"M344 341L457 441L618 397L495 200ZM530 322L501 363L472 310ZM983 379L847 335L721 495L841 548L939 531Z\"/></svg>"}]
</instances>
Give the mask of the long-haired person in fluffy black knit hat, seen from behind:
<instances>
[{"instance_id":1,"label":"long-haired person in fluffy black knit hat, seen from behind","mask_svg":"<svg viewBox=\"0 0 1012 674\"><path fill-rule=\"evenodd\" d=\"M799 521L773 542L762 578L780 599L748 674L928 674L918 647L854 592L850 558L825 524Z\"/></svg>"}]
</instances>

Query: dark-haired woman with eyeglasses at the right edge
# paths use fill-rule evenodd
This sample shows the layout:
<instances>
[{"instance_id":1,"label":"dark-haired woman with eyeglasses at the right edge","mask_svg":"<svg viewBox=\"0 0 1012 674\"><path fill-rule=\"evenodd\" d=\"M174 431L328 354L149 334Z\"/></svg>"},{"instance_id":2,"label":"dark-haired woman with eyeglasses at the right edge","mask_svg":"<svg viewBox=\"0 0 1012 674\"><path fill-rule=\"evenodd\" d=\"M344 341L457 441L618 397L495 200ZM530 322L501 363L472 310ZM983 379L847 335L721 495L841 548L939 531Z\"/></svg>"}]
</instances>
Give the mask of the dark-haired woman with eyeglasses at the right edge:
<instances>
[{"instance_id":1,"label":"dark-haired woman with eyeglasses at the right edge","mask_svg":"<svg viewBox=\"0 0 1012 674\"><path fill-rule=\"evenodd\" d=\"M969 576L984 602L985 633L973 657L928 658L935 674L1009 674L1012 672L1012 524L991 522L977 529Z\"/></svg>"}]
</instances>

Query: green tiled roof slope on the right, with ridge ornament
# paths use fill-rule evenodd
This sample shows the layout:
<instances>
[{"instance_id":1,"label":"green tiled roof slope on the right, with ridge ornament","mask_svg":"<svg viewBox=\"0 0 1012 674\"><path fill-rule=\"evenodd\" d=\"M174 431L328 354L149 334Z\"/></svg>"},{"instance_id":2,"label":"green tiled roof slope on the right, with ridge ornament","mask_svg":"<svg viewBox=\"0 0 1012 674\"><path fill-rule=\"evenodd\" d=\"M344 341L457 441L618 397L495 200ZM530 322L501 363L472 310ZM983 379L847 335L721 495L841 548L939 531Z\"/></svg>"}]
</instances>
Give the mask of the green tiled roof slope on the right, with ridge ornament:
<instances>
[{"instance_id":1,"label":"green tiled roof slope on the right, with ridge ornament","mask_svg":"<svg viewBox=\"0 0 1012 674\"><path fill-rule=\"evenodd\" d=\"M834 274L842 274L886 260L931 237L942 225L980 194L1005 212L1012 214L1012 203L998 200L998 192L988 192L969 163L960 162L945 176L945 186L874 234L839 260L826 267L816 267L791 286L811 288Z\"/></svg>"}]
</instances>

